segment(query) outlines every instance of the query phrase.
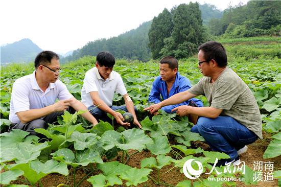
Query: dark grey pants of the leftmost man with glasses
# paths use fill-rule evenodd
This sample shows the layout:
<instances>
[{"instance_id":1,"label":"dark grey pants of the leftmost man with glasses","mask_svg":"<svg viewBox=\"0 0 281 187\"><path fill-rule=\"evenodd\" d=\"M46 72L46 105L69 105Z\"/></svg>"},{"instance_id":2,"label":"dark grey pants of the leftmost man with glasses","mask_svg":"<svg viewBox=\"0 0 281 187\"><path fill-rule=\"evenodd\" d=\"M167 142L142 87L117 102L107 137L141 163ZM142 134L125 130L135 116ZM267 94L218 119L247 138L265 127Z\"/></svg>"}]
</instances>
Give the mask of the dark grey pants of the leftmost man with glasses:
<instances>
[{"instance_id":1,"label":"dark grey pants of the leftmost man with glasses","mask_svg":"<svg viewBox=\"0 0 281 187\"><path fill-rule=\"evenodd\" d=\"M67 111L70 113L75 113L75 110L72 107L69 107L67 109ZM64 113L64 111L54 112L54 113L44 116L43 119L36 119L36 120L33 120L28 123L21 123L21 122L11 123L9 131L11 131L13 129L20 129L20 130L30 132L31 135L36 135L36 136L42 138L44 136L40 133L35 132L34 129L48 128L48 123L50 123L50 124L56 123L58 121L58 116L61 116L63 113Z\"/></svg>"}]
</instances>

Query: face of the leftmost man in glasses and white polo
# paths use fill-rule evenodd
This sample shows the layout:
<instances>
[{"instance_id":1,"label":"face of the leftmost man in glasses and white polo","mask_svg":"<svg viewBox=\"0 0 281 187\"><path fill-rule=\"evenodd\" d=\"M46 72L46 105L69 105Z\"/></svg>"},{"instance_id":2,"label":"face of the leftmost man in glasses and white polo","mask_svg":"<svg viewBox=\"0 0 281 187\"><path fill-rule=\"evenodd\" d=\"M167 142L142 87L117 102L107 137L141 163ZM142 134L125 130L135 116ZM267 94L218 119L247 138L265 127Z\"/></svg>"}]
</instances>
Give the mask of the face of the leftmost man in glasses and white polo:
<instances>
[{"instance_id":1,"label":"face of the leftmost man in glasses and white polo","mask_svg":"<svg viewBox=\"0 0 281 187\"><path fill-rule=\"evenodd\" d=\"M59 78L59 60L53 58L50 64L40 65L42 68L43 77L46 81L55 83Z\"/></svg>"}]
</instances>

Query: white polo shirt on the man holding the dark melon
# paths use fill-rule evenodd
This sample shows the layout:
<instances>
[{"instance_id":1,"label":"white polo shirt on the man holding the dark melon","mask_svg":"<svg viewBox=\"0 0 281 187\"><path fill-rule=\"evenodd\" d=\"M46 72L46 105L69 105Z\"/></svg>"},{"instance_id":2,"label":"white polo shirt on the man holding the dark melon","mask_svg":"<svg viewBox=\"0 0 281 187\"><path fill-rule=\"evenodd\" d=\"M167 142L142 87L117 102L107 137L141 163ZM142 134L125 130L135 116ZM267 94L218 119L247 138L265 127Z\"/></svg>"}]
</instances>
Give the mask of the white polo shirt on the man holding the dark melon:
<instances>
[{"instance_id":1,"label":"white polo shirt on the man holding the dark melon","mask_svg":"<svg viewBox=\"0 0 281 187\"><path fill-rule=\"evenodd\" d=\"M127 93L124 82L119 73L112 71L109 78L104 80L99 74L98 68L93 67L86 72L81 91L82 103L89 107L93 105L90 96L91 91L98 91L99 97L107 106L112 106L114 92L124 96Z\"/></svg>"}]
</instances>

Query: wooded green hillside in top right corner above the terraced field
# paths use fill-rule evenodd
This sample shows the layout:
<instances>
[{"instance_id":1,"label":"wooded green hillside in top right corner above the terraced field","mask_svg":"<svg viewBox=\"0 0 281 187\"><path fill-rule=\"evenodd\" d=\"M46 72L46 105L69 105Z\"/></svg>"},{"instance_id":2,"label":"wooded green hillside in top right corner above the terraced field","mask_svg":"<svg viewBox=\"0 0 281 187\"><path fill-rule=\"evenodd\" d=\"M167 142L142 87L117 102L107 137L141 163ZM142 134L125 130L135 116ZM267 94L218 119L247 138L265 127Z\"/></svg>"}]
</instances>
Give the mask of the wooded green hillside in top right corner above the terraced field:
<instances>
[{"instance_id":1,"label":"wooded green hillside in top right corner above the terraced field","mask_svg":"<svg viewBox=\"0 0 281 187\"><path fill-rule=\"evenodd\" d=\"M229 6L222 18L208 23L212 35L226 38L279 36L281 4L278 1L249 1L247 5Z\"/></svg>"}]
</instances>

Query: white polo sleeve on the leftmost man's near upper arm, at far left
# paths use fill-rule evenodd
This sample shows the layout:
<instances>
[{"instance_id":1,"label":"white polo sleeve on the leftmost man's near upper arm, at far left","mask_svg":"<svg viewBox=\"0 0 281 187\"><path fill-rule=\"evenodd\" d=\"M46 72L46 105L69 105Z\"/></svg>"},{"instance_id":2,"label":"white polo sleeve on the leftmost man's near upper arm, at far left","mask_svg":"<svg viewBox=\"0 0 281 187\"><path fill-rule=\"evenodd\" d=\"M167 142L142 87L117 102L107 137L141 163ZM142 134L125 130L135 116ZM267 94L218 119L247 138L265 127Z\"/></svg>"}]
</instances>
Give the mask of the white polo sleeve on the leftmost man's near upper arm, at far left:
<instances>
[{"instance_id":1,"label":"white polo sleeve on the leftmost man's near upper arm, at far left","mask_svg":"<svg viewBox=\"0 0 281 187\"><path fill-rule=\"evenodd\" d=\"M15 82L13 85L11 100L13 101L15 113L30 109L28 86Z\"/></svg>"}]
</instances>

